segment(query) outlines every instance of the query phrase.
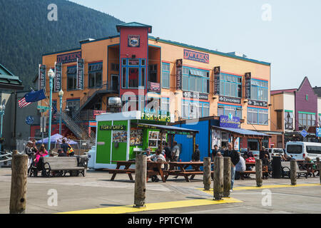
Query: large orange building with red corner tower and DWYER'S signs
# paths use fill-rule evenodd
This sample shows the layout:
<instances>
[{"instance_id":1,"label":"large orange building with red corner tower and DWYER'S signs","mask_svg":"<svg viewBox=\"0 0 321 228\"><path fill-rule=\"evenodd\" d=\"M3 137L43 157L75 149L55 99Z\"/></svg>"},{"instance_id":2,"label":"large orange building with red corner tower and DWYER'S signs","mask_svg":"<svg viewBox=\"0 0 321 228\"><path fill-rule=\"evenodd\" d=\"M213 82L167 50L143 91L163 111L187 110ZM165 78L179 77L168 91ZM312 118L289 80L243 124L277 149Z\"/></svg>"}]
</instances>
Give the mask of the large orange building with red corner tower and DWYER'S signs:
<instances>
[{"instance_id":1,"label":"large orange building with red corner tower and DWYER'S signs","mask_svg":"<svg viewBox=\"0 0 321 228\"><path fill-rule=\"evenodd\" d=\"M62 88L72 120L93 127L94 115L117 96L123 110L161 110L175 120L230 114L243 120L241 128L270 131L270 63L148 36L145 24L116 27L118 36L42 58L46 71L61 67L53 100L59 110ZM49 78L40 86L49 91Z\"/></svg>"}]
</instances>

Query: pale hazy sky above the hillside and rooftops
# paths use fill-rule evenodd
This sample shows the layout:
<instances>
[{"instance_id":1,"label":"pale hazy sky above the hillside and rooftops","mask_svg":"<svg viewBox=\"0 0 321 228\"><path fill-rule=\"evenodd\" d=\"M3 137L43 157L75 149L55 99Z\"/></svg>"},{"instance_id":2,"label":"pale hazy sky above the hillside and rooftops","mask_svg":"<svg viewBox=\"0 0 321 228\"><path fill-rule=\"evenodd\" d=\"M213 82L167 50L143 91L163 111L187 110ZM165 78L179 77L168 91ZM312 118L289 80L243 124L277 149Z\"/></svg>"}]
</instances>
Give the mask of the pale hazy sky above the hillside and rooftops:
<instances>
[{"instance_id":1,"label":"pale hazy sky above the hillside and rooftops","mask_svg":"<svg viewBox=\"0 0 321 228\"><path fill-rule=\"evenodd\" d=\"M271 63L271 90L321 86L321 1L70 0L125 21L153 26L151 36Z\"/></svg>"}]
</instances>

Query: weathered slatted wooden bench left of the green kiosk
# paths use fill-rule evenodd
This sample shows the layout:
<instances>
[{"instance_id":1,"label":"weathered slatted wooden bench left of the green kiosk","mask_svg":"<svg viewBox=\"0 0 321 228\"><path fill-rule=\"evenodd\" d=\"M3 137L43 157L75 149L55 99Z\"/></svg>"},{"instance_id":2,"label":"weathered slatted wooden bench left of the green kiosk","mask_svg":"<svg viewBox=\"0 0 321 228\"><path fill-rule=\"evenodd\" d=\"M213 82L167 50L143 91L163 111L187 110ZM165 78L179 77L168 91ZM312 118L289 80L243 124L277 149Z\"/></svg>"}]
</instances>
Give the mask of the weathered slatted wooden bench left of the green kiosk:
<instances>
[{"instance_id":1,"label":"weathered slatted wooden bench left of the green kiosk","mask_svg":"<svg viewBox=\"0 0 321 228\"><path fill-rule=\"evenodd\" d=\"M43 176L66 176L69 175L79 175L81 173L83 177L86 175L86 167L78 166L77 157L44 157L44 170ZM36 177L38 175L37 169L32 169L30 176L34 174Z\"/></svg>"}]
</instances>

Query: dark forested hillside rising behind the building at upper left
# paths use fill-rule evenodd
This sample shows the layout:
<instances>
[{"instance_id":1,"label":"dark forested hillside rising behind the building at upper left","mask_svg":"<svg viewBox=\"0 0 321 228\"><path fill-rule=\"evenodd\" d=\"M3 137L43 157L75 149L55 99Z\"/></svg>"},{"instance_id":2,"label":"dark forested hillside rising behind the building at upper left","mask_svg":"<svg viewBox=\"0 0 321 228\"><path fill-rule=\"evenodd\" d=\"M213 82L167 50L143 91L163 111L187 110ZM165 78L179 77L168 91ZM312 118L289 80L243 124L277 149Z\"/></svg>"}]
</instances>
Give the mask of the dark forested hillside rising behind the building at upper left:
<instances>
[{"instance_id":1,"label":"dark forested hillside rising behind the building at upper left","mask_svg":"<svg viewBox=\"0 0 321 228\"><path fill-rule=\"evenodd\" d=\"M57 6L57 21L49 4ZM29 89L44 53L78 48L85 38L117 33L113 16L66 0L0 0L0 63Z\"/></svg>"}]
</instances>

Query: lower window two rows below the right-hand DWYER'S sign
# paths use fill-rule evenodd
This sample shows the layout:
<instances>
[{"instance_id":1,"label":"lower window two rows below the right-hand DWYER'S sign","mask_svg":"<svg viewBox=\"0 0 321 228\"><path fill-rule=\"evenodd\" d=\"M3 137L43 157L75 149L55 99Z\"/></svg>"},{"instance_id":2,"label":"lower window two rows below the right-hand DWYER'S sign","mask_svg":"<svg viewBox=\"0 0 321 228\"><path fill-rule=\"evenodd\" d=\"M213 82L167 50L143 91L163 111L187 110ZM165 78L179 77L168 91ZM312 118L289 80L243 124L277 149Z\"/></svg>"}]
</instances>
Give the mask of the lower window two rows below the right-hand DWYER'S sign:
<instances>
[{"instance_id":1,"label":"lower window two rows below the right-hand DWYER'S sign","mask_svg":"<svg viewBox=\"0 0 321 228\"><path fill-rule=\"evenodd\" d=\"M194 100L182 100L182 118L194 119L208 116L210 103Z\"/></svg>"}]
</instances>

